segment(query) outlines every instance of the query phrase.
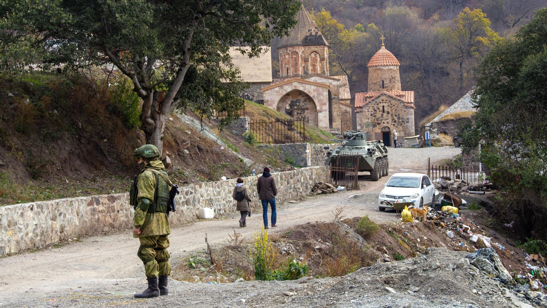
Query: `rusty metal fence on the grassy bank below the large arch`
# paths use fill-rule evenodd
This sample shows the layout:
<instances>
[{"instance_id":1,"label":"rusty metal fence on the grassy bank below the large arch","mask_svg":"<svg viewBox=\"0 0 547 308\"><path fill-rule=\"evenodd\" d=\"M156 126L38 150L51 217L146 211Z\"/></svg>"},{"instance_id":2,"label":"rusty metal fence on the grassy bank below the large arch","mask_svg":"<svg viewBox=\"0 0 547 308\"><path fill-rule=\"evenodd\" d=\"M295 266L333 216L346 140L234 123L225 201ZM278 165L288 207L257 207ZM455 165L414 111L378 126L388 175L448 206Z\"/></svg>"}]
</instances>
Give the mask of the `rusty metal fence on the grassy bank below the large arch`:
<instances>
[{"instance_id":1,"label":"rusty metal fence on the grassy bank below the large arch","mask_svg":"<svg viewBox=\"0 0 547 308\"><path fill-rule=\"evenodd\" d=\"M258 144L297 143L306 140L304 120L251 122L249 130L253 132Z\"/></svg>"}]
</instances>

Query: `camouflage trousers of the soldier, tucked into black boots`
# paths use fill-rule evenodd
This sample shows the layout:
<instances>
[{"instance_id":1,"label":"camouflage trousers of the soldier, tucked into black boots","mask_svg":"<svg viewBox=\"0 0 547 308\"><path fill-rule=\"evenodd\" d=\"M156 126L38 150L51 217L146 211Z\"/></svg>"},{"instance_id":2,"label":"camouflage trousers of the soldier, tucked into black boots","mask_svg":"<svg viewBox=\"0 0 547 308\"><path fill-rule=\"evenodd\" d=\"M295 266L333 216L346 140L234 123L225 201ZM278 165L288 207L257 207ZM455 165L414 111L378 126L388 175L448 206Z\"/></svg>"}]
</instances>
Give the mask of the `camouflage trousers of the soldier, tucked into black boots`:
<instances>
[{"instance_id":1,"label":"camouflage trousers of the soldier, tucked into black boots","mask_svg":"<svg viewBox=\"0 0 547 308\"><path fill-rule=\"evenodd\" d=\"M137 255L144 263L146 277L169 276L171 264L169 263L169 239L167 235L154 235L139 237L141 246Z\"/></svg>"}]
</instances>

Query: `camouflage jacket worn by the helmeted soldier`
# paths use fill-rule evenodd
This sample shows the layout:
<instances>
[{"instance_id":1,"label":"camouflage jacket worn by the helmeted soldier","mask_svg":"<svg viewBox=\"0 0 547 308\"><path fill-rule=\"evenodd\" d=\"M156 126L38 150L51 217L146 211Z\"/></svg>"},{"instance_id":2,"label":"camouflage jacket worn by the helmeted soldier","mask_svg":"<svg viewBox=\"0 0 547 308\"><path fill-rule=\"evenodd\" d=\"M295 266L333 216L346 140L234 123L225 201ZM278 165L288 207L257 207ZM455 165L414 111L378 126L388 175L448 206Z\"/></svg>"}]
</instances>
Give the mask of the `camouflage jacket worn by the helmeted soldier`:
<instances>
[{"instance_id":1,"label":"camouflage jacket worn by the helmeted soldier","mask_svg":"<svg viewBox=\"0 0 547 308\"><path fill-rule=\"evenodd\" d=\"M144 169L154 168L164 170L164 164L161 161L152 161L144 164ZM140 203L142 198L148 198L154 201L154 190L156 187L156 178L152 171L145 171L139 174L137 179L138 195L137 201ZM147 213L141 207L137 207L133 216L133 227L141 229L141 234L133 232L133 237L165 235L171 233L171 227L167 220L167 214L161 212Z\"/></svg>"}]
</instances>

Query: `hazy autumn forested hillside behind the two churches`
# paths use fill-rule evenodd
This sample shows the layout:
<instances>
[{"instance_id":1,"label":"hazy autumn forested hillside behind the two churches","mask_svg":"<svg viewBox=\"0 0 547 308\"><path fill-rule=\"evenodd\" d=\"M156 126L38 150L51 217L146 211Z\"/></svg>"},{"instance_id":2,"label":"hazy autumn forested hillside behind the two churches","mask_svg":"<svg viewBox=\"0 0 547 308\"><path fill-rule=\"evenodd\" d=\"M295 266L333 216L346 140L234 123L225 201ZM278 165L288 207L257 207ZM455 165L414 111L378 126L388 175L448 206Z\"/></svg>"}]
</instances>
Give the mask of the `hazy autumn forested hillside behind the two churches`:
<instances>
[{"instance_id":1,"label":"hazy autumn forested hillside behind the two churches","mask_svg":"<svg viewBox=\"0 0 547 308\"><path fill-rule=\"evenodd\" d=\"M352 93L367 90L366 64L380 48L380 37L386 37L386 48L401 63L402 87L415 91L416 123L467 93L475 84L474 67L482 56L545 6L541 0L303 3L330 44L330 75L348 75ZM274 67L277 43L272 44Z\"/></svg>"}]
</instances>

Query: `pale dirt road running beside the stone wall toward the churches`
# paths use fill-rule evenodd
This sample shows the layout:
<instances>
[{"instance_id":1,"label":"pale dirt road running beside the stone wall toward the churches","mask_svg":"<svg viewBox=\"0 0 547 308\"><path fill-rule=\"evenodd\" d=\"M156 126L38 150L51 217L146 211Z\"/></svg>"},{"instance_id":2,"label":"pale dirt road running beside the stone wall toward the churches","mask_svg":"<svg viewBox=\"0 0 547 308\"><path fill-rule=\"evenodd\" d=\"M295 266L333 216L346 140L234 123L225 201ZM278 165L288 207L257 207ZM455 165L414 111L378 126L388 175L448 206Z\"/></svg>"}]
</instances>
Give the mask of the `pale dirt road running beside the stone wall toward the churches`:
<instances>
[{"instance_id":1,"label":"pale dirt road running beside the stone wall toward the churches","mask_svg":"<svg viewBox=\"0 0 547 308\"><path fill-rule=\"evenodd\" d=\"M425 170L428 156L438 160L459 152L455 148L390 149L390 174ZM345 206L346 217L369 215L375 221L394 220L393 213L379 212L377 209L378 193L388 178L385 176L377 182L363 179L359 191L305 197L296 204L281 204L277 209L278 227L271 231L330 220L333 216L331 212L340 206ZM360 195L353 196L356 194ZM173 227L169 248L171 260L176 262L191 251L205 249L203 237L206 232L211 244L219 244L232 232L232 227L237 227L238 232L249 238L262 225L261 209L247 220L248 227L245 229L238 228L236 216L239 215L230 214L223 219ZM83 238L80 242L71 242L60 248L0 259L0 305L16 301L21 295L41 298L52 292L95 288L105 281L140 281L144 277L144 270L136 255L138 245L138 239L132 238L128 230Z\"/></svg>"}]
</instances>

